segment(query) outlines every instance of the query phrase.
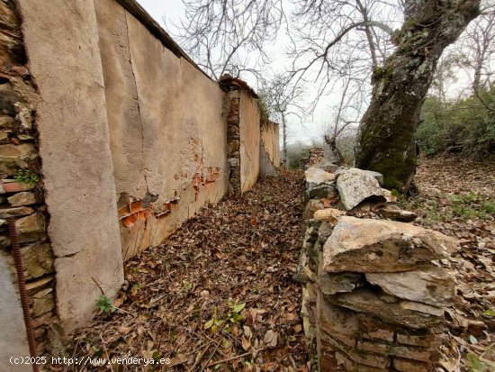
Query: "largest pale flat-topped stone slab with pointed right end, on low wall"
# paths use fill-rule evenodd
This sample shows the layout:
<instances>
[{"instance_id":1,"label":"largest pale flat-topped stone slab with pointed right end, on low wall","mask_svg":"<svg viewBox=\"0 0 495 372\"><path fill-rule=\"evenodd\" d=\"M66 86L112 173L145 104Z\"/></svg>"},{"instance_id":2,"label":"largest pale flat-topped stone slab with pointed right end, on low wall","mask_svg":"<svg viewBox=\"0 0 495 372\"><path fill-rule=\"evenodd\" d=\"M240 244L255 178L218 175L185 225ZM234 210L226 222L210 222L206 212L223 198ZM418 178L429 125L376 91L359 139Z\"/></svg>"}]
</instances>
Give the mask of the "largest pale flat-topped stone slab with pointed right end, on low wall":
<instances>
[{"instance_id":1,"label":"largest pale flat-topped stone slab with pointed right end, on low wall","mask_svg":"<svg viewBox=\"0 0 495 372\"><path fill-rule=\"evenodd\" d=\"M324 270L409 271L456 249L456 240L404 222L342 216L323 247Z\"/></svg>"}]
</instances>

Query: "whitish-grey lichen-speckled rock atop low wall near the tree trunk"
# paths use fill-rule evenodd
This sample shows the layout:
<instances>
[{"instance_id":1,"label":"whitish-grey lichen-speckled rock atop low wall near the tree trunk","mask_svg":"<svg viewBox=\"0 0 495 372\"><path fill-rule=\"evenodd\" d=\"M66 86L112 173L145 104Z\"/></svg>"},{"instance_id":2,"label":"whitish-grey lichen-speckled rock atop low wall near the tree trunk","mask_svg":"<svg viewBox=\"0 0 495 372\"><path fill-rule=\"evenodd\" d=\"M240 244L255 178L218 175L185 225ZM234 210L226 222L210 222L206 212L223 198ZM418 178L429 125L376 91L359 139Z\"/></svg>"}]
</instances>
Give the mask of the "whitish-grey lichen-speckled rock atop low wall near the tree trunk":
<instances>
[{"instance_id":1,"label":"whitish-grey lichen-speckled rock atop low wall near the tree trunk","mask_svg":"<svg viewBox=\"0 0 495 372\"><path fill-rule=\"evenodd\" d=\"M340 200L347 211L368 198L386 201L378 180L362 169L349 168L341 171L338 175L337 187Z\"/></svg>"}]
</instances>

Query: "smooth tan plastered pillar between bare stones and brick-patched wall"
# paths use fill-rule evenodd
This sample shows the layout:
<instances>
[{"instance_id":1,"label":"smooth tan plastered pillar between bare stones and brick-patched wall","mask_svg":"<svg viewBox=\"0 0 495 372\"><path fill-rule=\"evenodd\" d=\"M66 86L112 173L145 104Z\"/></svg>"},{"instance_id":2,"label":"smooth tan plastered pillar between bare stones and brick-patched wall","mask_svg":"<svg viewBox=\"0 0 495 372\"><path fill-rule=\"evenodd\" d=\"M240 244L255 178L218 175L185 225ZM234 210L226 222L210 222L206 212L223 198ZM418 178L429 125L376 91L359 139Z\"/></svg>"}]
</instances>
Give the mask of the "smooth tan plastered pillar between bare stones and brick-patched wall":
<instances>
[{"instance_id":1,"label":"smooth tan plastered pillar between bare stones and brick-patched wall","mask_svg":"<svg viewBox=\"0 0 495 372\"><path fill-rule=\"evenodd\" d=\"M67 332L123 281L112 153L93 0L19 0L37 110L43 184Z\"/></svg>"}]
</instances>

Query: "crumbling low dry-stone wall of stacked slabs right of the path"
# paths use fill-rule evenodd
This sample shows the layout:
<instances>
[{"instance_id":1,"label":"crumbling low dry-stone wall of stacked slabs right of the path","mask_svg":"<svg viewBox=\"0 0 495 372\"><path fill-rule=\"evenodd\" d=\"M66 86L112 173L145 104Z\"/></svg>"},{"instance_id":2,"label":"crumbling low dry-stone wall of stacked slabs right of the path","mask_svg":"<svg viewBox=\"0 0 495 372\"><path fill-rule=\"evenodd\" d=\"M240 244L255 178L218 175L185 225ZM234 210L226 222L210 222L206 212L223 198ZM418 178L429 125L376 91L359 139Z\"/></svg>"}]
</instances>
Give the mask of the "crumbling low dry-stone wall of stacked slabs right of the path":
<instances>
[{"instance_id":1,"label":"crumbling low dry-stone wall of stacked slabs right of the path","mask_svg":"<svg viewBox=\"0 0 495 372\"><path fill-rule=\"evenodd\" d=\"M436 262L456 240L408 223L416 215L391 203L380 174L305 175L308 228L294 278L303 284L304 332L317 341L320 370L434 370L444 308L455 300L455 281Z\"/></svg>"}]
</instances>

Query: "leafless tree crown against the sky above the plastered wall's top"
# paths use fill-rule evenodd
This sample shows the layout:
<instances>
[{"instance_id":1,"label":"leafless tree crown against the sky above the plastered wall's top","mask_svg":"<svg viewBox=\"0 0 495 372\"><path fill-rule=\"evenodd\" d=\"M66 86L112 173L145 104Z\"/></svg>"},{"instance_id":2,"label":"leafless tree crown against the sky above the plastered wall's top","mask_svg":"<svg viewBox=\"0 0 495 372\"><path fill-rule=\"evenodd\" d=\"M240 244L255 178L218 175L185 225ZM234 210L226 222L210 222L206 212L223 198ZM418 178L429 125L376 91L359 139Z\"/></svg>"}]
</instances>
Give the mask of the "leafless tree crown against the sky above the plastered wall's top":
<instances>
[{"instance_id":1,"label":"leafless tree crown against the sky above the plastered wall's top","mask_svg":"<svg viewBox=\"0 0 495 372\"><path fill-rule=\"evenodd\" d=\"M283 0L183 0L184 19L175 37L216 80L224 74L259 77L269 62L266 43L284 21ZM164 20L165 22L166 20Z\"/></svg>"}]
</instances>

